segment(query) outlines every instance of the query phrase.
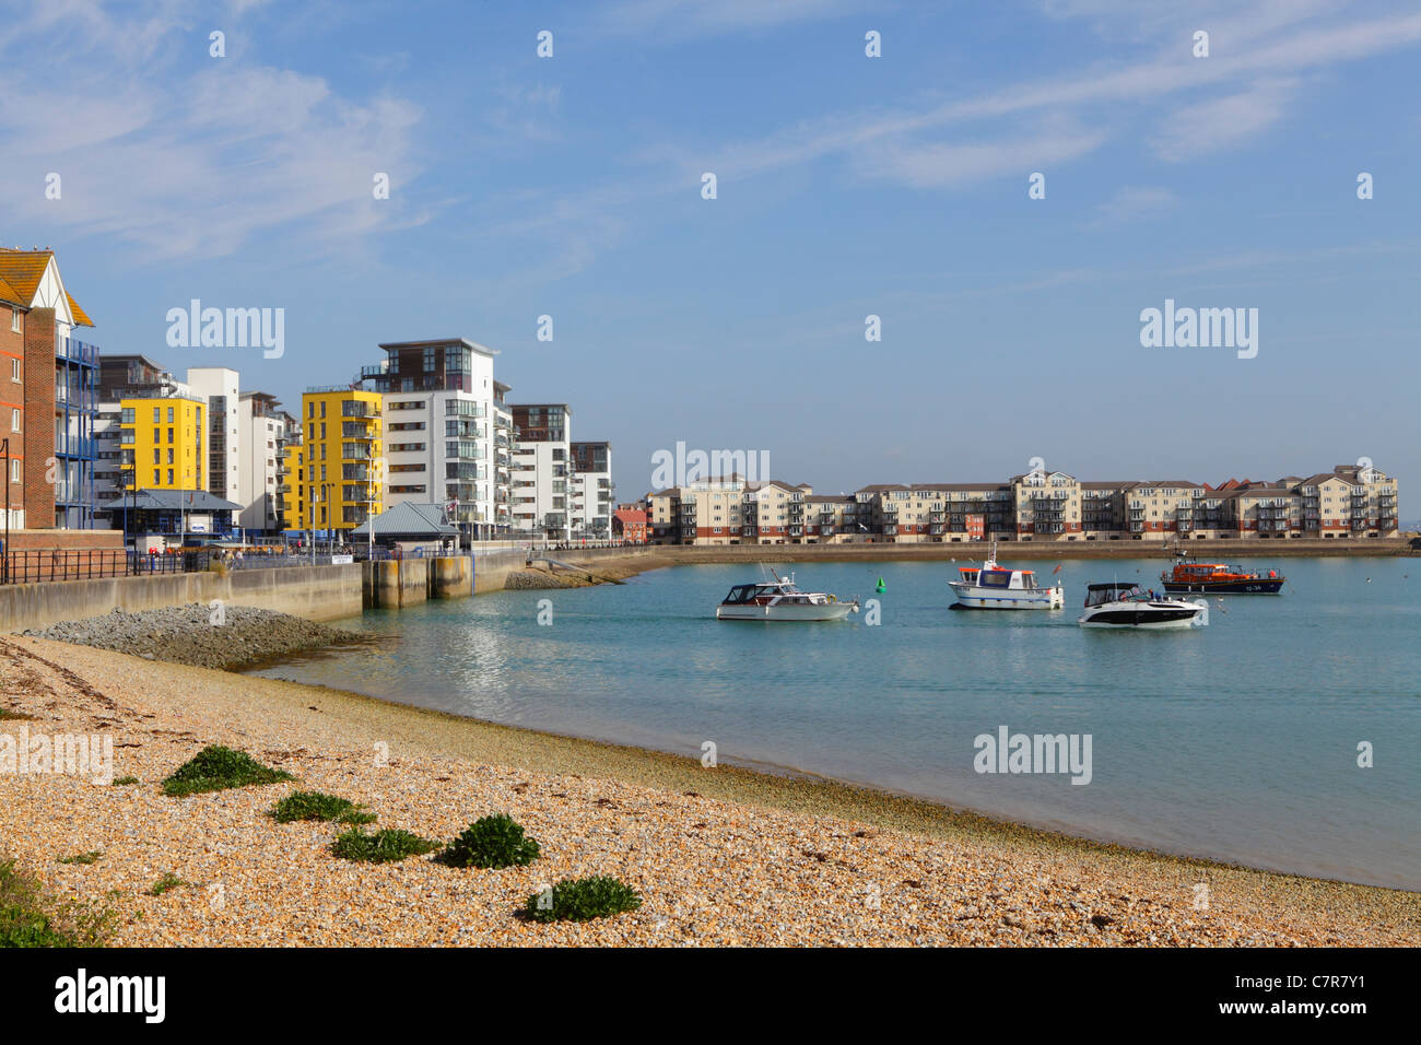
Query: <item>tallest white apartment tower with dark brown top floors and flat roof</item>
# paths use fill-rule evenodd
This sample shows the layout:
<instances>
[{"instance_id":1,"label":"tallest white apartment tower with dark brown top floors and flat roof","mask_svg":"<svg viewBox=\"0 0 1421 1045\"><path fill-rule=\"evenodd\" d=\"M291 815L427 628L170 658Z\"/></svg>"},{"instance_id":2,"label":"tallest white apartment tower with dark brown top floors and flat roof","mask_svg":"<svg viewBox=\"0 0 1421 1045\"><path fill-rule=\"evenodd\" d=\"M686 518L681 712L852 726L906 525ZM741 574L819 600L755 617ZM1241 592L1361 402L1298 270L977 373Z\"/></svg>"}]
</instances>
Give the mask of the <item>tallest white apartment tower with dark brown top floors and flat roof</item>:
<instances>
[{"instance_id":1,"label":"tallest white apartment tower with dark brown top floors and flat roof","mask_svg":"<svg viewBox=\"0 0 1421 1045\"><path fill-rule=\"evenodd\" d=\"M507 391L493 380L497 351L462 337L379 347L385 361L364 367L361 382L384 398L385 508L441 505L466 539L495 536L497 421ZM506 431L503 439L506 458Z\"/></svg>"}]
</instances>

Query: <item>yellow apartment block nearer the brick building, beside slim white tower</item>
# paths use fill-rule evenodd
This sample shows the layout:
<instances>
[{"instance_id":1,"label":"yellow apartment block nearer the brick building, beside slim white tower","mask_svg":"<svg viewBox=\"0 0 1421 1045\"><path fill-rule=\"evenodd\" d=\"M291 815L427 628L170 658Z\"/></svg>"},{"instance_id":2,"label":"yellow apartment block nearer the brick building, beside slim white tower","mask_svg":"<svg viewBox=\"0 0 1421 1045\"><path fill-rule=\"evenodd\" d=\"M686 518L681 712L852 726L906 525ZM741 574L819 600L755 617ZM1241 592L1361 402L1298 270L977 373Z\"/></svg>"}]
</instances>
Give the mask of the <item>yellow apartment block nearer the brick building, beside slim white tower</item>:
<instances>
[{"instance_id":1,"label":"yellow apartment block nearer the brick building, beside slim white tower","mask_svg":"<svg viewBox=\"0 0 1421 1045\"><path fill-rule=\"evenodd\" d=\"M207 404L186 397L122 400L124 471L134 489L207 489ZM125 476L126 478L126 476Z\"/></svg>"}]
</instances>

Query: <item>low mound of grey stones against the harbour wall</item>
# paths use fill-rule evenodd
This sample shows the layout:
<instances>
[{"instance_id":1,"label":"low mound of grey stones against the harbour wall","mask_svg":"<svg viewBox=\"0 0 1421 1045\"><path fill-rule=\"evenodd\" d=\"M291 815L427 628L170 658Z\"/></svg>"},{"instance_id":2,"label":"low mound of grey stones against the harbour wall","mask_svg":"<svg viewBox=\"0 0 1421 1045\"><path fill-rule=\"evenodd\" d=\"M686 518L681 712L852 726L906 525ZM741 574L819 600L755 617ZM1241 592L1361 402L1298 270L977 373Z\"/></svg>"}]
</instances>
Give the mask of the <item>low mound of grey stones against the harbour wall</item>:
<instances>
[{"instance_id":1,"label":"low mound of grey stones against the harbour wall","mask_svg":"<svg viewBox=\"0 0 1421 1045\"><path fill-rule=\"evenodd\" d=\"M114 610L21 634L200 668L236 668L301 650L368 641L345 628L250 606Z\"/></svg>"}]
</instances>

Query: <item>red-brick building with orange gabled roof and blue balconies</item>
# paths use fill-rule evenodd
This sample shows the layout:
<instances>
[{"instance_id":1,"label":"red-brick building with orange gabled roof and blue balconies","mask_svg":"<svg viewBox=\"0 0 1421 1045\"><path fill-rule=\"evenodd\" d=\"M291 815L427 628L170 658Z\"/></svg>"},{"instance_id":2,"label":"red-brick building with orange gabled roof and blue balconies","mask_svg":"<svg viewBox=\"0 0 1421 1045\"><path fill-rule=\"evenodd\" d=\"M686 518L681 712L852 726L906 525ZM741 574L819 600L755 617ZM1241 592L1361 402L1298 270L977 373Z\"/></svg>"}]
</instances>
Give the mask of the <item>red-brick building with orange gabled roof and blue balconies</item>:
<instances>
[{"instance_id":1,"label":"red-brick building with orange gabled roof and blue balconies","mask_svg":"<svg viewBox=\"0 0 1421 1045\"><path fill-rule=\"evenodd\" d=\"M65 289L53 250L0 247L0 297L13 299L6 317L10 351L3 363L9 414L0 421L0 438L10 441L11 451L23 451L13 454L10 472L18 461L24 523L31 529L92 529L99 353L77 334L94 323ZM24 343L20 407L13 402L16 334ZM13 427L17 422L18 429ZM14 493L17 483L10 476L7 485Z\"/></svg>"}]
</instances>

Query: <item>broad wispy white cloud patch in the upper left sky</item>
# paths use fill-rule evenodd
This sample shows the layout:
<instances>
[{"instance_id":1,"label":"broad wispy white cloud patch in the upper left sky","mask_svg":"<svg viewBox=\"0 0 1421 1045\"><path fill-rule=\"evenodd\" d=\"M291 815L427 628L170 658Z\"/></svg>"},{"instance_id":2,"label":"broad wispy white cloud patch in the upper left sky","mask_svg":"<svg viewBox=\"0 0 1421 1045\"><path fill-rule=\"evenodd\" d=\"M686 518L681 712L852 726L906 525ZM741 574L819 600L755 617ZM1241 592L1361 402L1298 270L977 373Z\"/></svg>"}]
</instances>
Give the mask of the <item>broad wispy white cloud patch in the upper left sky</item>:
<instances>
[{"instance_id":1,"label":"broad wispy white cloud patch in the upper left sky","mask_svg":"<svg viewBox=\"0 0 1421 1045\"><path fill-rule=\"evenodd\" d=\"M396 185L418 175L411 102L345 98L323 77L236 60L193 64L206 33L171 4L128 21L95 4L64 7L65 44L85 60L63 77L16 61L36 33L53 31L48 7L0 40L11 67L0 193L16 220L114 236L146 260L229 254L271 229L315 253L421 220L371 193L377 172ZM60 199L45 198L48 172L61 178Z\"/></svg>"}]
</instances>

